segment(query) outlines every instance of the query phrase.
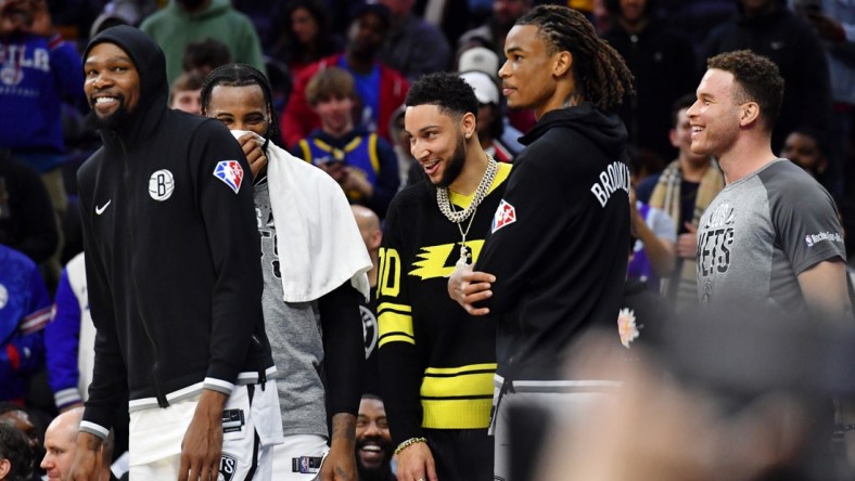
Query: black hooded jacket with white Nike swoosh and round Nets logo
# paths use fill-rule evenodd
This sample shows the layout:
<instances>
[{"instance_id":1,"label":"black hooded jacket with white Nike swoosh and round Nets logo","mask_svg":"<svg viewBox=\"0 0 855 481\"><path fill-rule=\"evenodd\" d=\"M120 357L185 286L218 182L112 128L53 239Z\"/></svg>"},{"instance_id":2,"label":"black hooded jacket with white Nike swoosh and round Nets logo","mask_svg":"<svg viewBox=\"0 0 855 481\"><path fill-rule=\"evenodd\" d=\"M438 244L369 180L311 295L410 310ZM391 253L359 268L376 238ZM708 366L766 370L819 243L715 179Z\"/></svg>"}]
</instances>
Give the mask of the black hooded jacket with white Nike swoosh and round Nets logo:
<instances>
[{"instance_id":1,"label":"black hooded jacket with white Nike swoosh and round Nets logo","mask_svg":"<svg viewBox=\"0 0 855 481\"><path fill-rule=\"evenodd\" d=\"M142 31L93 38L124 50L139 103L78 171L86 271L98 328L81 430L112 410L165 407L203 388L229 394L272 373L250 167L219 121L166 108L163 52ZM103 92L114 94L112 86Z\"/></svg>"}]
</instances>

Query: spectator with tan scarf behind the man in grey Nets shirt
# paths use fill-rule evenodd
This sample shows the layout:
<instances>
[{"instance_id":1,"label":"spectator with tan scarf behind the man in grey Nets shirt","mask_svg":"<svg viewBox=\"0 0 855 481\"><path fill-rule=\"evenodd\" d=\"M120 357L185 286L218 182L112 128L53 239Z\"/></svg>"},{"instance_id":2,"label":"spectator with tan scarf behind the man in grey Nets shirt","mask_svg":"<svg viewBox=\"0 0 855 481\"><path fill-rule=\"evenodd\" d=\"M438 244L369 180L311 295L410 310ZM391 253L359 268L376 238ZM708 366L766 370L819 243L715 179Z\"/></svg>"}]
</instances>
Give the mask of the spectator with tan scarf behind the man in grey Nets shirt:
<instances>
[{"instance_id":1,"label":"spectator with tan scarf behind the man in grey Nets shirt","mask_svg":"<svg viewBox=\"0 0 855 481\"><path fill-rule=\"evenodd\" d=\"M698 304L696 232L701 214L725 186L718 164L707 154L691 151L692 127L687 112L694 99L694 94L688 94L674 103L668 136L679 154L661 176L647 182L652 190L648 204L667 212L676 226L677 261L673 275L663 283L662 292L674 303L677 312Z\"/></svg>"}]
</instances>

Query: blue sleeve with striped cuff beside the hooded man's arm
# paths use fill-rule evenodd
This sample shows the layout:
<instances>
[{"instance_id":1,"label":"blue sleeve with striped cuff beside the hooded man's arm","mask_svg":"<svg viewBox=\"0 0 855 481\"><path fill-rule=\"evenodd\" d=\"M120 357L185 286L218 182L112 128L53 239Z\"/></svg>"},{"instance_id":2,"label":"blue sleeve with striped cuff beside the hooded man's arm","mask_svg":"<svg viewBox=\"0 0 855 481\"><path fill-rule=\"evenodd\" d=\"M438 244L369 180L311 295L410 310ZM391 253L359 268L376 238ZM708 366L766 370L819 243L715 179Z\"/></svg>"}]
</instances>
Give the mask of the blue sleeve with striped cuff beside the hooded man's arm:
<instances>
[{"instance_id":1,"label":"blue sleeve with striped cuff beside the hooded man's arm","mask_svg":"<svg viewBox=\"0 0 855 481\"><path fill-rule=\"evenodd\" d=\"M77 349L80 338L80 303L68 282L68 271L63 270L53 301L53 321L44 328L44 348L48 361L48 382L53 391L56 408L79 403L77 390L80 377Z\"/></svg>"}]
</instances>

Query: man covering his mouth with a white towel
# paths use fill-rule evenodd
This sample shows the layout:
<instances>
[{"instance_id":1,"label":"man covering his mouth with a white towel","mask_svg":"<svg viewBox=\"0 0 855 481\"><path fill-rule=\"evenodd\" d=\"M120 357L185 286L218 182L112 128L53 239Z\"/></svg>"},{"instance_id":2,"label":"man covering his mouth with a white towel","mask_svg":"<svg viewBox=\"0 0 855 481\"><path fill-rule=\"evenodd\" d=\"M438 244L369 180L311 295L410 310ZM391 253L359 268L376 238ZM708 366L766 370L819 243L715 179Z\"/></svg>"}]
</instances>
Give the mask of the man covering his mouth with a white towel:
<instances>
[{"instance_id":1,"label":"man covering his mouth with a white towel","mask_svg":"<svg viewBox=\"0 0 855 481\"><path fill-rule=\"evenodd\" d=\"M371 259L339 184L269 143L275 112L267 78L248 65L218 67L202 86L203 115L232 130L254 176L261 310L285 434L275 479L355 479L365 362L357 290L368 297Z\"/></svg>"}]
</instances>

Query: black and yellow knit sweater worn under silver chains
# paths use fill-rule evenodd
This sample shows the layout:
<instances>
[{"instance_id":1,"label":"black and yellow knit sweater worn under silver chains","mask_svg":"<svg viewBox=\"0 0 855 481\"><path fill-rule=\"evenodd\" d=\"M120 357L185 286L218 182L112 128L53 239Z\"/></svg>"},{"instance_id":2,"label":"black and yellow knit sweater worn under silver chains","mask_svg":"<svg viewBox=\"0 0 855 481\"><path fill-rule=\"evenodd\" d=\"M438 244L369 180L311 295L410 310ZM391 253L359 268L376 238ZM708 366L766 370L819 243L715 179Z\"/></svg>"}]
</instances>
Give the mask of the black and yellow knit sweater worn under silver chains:
<instances>
[{"instance_id":1,"label":"black and yellow knit sweater worn under silver chains","mask_svg":"<svg viewBox=\"0 0 855 481\"><path fill-rule=\"evenodd\" d=\"M467 235L477 259L505 192L511 166L500 164ZM471 197L449 193L459 208ZM469 219L461 229L465 230ZM489 422L496 370L496 325L473 317L448 297L448 276L460 258L461 233L419 182L390 206L380 249L378 323L386 415L396 443L421 428L483 429ZM472 262L472 259L470 259Z\"/></svg>"}]
</instances>

